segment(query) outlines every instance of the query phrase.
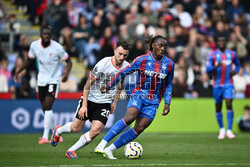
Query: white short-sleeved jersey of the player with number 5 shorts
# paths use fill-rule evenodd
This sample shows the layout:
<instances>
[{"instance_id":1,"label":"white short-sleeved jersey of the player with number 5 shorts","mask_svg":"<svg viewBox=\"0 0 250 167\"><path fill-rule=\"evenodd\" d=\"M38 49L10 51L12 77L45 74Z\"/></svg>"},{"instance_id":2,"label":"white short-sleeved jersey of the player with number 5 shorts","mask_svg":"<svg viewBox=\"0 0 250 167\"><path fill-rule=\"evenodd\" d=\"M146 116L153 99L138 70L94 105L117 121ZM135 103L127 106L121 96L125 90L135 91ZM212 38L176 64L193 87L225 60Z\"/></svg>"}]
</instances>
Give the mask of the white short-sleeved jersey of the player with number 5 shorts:
<instances>
[{"instance_id":1,"label":"white short-sleeved jersey of the player with number 5 shorts","mask_svg":"<svg viewBox=\"0 0 250 167\"><path fill-rule=\"evenodd\" d=\"M60 64L69 56L63 46L56 41L51 40L46 48L41 42L41 39L32 42L29 50L29 58L37 58L38 61L38 86L58 84L62 75Z\"/></svg>"}]
</instances>

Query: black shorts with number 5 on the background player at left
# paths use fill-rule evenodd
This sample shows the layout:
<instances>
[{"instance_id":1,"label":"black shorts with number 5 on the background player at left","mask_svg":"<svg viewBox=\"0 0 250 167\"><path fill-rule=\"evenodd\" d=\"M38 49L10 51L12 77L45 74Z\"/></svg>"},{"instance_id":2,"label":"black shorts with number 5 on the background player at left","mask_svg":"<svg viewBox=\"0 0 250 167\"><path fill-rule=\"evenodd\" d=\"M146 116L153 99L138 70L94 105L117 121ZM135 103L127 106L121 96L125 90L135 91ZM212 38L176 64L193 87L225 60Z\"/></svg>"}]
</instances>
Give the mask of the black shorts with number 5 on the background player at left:
<instances>
[{"instance_id":1,"label":"black shorts with number 5 on the background player at left","mask_svg":"<svg viewBox=\"0 0 250 167\"><path fill-rule=\"evenodd\" d=\"M58 85L57 84L49 84L46 86L38 86L38 94L39 100L43 101L46 96L49 97L57 97Z\"/></svg>"}]
</instances>

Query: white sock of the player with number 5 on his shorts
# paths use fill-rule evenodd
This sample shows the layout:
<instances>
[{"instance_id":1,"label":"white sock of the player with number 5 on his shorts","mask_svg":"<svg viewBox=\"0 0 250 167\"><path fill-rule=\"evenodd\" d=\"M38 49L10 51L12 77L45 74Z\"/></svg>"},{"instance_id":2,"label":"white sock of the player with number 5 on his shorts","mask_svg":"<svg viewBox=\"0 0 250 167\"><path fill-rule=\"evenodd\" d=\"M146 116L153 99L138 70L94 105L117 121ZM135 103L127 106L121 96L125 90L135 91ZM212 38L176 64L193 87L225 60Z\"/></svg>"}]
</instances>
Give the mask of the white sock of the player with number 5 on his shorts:
<instances>
[{"instance_id":1,"label":"white sock of the player with number 5 on his shorts","mask_svg":"<svg viewBox=\"0 0 250 167\"><path fill-rule=\"evenodd\" d=\"M46 110L44 112L44 121L43 121L43 127L44 127L43 138L48 139L48 137L49 137L49 130L51 128L52 119L53 119L52 110Z\"/></svg>"}]
</instances>

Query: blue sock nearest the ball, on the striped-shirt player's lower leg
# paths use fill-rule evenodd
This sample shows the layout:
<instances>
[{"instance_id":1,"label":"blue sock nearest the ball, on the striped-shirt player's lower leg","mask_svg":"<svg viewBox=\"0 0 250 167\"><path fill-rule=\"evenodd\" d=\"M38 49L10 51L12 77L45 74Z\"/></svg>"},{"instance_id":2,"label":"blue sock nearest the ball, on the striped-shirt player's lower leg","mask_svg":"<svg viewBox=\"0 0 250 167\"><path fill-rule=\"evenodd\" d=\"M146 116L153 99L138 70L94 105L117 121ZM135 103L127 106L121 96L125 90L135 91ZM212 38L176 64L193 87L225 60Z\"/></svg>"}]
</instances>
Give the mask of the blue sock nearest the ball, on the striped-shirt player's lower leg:
<instances>
[{"instance_id":1,"label":"blue sock nearest the ball, on the striped-shirt player's lower leg","mask_svg":"<svg viewBox=\"0 0 250 167\"><path fill-rule=\"evenodd\" d=\"M134 128L132 128L124 132L113 144L118 149L124 146L125 144L128 144L129 142L133 141L135 138L137 138L137 136L137 132L134 130Z\"/></svg>"}]
</instances>

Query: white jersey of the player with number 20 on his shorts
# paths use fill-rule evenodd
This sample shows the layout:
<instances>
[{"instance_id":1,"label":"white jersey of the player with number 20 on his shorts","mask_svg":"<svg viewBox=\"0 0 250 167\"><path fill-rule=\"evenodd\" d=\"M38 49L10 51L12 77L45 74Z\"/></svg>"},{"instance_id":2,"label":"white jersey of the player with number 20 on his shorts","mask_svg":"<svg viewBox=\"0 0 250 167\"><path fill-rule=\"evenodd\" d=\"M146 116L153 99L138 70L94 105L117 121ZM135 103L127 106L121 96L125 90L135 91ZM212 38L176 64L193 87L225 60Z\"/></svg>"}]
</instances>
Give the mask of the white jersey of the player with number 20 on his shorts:
<instances>
[{"instance_id":1,"label":"white jersey of the player with number 20 on his shorts","mask_svg":"<svg viewBox=\"0 0 250 167\"><path fill-rule=\"evenodd\" d=\"M129 66L127 61L124 61L121 68L118 68L112 62L113 57L105 57L100 60L91 72L91 77L96 81L90 87L88 100L94 103L111 103L118 85L112 87L107 93L102 94L100 88L107 85L109 81L125 67Z\"/></svg>"}]
</instances>

